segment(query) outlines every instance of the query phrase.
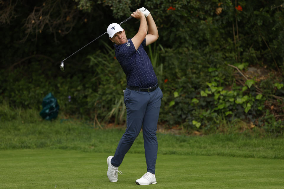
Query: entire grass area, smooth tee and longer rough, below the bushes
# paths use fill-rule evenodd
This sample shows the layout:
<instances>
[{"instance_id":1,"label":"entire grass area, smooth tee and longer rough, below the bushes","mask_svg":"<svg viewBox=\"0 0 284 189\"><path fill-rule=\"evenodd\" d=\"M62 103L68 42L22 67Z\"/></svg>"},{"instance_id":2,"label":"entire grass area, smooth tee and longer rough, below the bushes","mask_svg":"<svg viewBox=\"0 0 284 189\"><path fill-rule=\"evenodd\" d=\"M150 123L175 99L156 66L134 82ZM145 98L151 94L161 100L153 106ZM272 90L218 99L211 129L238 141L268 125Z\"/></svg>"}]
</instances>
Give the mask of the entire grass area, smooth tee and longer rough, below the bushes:
<instances>
[{"instance_id":1,"label":"entire grass area, smooth tee and longer rough, below the bushes","mask_svg":"<svg viewBox=\"0 0 284 189\"><path fill-rule=\"evenodd\" d=\"M146 172L143 135L126 154L117 183L106 177L124 128L42 120L35 110L0 118L0 188L137 188ZM4 115L4 116L3 116ZM0 115L1 116L1 115ZM157 184L151 188L284 188L284 140L244 133L157 133Z\"/></svg>"}]
</instances>

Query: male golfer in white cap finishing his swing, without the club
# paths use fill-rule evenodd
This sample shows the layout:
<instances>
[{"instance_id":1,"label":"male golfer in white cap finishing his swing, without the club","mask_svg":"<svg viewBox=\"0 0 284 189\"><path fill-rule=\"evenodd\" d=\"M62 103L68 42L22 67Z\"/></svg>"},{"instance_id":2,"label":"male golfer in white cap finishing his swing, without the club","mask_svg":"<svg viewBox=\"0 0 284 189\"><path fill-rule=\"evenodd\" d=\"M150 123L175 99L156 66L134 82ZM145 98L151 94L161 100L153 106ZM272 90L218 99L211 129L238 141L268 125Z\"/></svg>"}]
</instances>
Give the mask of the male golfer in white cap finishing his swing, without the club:
<instances>
[{"instance_id":1,"label":"male golfer in white cap finishing his swing, without the club","mask_svg":"<svg viewBox=\"0 0 284 189\"><path fill-rule=\"evenodd\" d=\"M107 28L109 39L115 43L115 56L127 80L124 91L127 127L114 156L107 158L107 177L111 182L117 182L118 172L122 174L118 167L142 128L147 172L135 183L149 185L157 183L155 177L158 151L156 131L163 94L158 87L156 74L144 48L154 43L159 35L154 19L147 9L144 7L137 9L131 16L140 19L139 30L133 38L126 38L125 30L119 24L113 23Z\"/></svg>"}]
</instances>

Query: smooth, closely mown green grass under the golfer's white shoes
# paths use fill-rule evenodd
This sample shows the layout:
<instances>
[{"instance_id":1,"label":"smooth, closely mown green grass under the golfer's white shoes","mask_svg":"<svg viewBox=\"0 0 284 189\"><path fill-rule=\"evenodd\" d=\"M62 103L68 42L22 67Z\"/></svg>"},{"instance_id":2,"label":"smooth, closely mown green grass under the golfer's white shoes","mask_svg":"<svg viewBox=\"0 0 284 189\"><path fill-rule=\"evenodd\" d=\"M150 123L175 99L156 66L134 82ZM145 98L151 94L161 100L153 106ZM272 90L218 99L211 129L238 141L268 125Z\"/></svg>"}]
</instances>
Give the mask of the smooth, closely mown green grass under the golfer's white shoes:
<instances>
[{"instance_id":1,"label":"smooth, closely mown green grass under the golfer's white shoes","mask_svg":"<svg viewBox=\"0 0 284 189\"><path fill-rule=\"evenodd\" d=\"M284 160L158 154L156 185L138 186L143 154L126 154L117 183L106 176L112 154L60 149L2 150L0 188L284 188Z\"/></svg>"}]
</instances>

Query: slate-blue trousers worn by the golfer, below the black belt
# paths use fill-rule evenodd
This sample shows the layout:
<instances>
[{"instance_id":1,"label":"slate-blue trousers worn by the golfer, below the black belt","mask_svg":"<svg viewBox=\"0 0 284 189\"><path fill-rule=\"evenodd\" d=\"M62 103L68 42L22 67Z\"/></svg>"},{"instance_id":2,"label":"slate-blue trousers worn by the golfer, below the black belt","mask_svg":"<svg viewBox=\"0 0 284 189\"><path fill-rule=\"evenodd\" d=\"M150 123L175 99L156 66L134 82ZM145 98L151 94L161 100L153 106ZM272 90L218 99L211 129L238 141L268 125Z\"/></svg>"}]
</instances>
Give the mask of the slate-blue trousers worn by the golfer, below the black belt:
<instances>
[{"instance_id":1,"label":"slate-blue trousers worn by the golfer, below the black belt","mask_svg":"<svg viewBox=\"0 0 284 189\"><path fill-rule=\"evenodd\" d=\"M125 89L124 103L126 106L126 130L120 139L111 164L119 167L125 154L132 146L143 125L144 149L147 172L155 174L158 152L156 137L157 123L163 97L158 87L152 92L139 92Z\"/></svg>"}]
</instances>

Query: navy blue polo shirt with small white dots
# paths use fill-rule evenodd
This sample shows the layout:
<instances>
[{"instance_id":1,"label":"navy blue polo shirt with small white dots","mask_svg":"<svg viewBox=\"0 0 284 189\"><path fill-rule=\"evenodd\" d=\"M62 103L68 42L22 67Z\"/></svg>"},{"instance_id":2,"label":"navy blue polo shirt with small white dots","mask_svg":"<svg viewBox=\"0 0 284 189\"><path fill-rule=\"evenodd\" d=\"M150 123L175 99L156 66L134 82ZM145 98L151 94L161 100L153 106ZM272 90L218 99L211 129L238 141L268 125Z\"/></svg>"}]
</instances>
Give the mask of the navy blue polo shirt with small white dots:
<instances>
[{"instance_id":1,"label":"navy blue polo shirt with small white dots","mask_svg":"<svg viewBox=\"0 0 284 189\"><path fill-rule=\"evenodd\" d=\"M152 63L144 49L146 38L136 50L131 38L127 43L116 45L115 56L125 75L127 85L130 87L153 87L158 83Z\"/></svg>"}]
</instances>

